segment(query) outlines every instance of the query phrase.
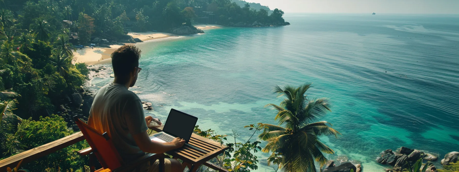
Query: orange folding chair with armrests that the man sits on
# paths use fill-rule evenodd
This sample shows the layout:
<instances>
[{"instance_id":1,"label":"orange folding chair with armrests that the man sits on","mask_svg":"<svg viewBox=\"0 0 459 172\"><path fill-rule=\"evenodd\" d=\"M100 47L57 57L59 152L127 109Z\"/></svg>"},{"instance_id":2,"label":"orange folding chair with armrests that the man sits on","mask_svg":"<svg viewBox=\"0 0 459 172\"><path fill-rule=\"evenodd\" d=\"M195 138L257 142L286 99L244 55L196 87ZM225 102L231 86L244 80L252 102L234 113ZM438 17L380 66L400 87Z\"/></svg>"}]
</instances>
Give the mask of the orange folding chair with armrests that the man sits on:
<instances>
[{"instance_id":1,"label":"orange folding chair with armrests that the man sits on","mask_svg":"<svg viewBox=\"0 0 459 172\"><path fill-rule=\"evenodd\" d=\"M77 123L78 128L80 128L81 133L83 133L84 139L90 145L92 151L90 155L90 171L91 172L132 172L134 168L138 167L140 164L150 161L151 164L159 159L159 171L164 172L164 154L146 154L140 157L137 160L124 162L121 159L121 156L118 153L118 150L115 149L115 146L110 139L110 135L105 132L101 133L94 128L90 127L85 122L78 119L77 116L74 116L73 119ZM89 149L85 149L88 151ZM86 152L88 153L88 152ZM95 159L97 158L101 163L102 168L95 170ZM137 168L137 171L140 169Z\"/></svg>"}]
</instances>

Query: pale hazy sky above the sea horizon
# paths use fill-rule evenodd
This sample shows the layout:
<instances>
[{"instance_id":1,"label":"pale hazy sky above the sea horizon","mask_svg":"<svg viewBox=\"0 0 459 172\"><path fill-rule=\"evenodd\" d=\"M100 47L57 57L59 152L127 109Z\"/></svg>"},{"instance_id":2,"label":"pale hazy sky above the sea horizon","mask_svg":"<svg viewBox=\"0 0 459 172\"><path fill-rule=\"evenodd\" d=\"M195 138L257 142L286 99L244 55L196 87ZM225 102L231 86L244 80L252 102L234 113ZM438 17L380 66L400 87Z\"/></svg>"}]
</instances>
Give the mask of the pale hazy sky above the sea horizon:
<instances>
[{"instance_id":1,"label":"pale hazy sky above the sea horizon","mask_svg":"<svg viewBox=\"0 0 459 172\"><path fill-rule=\"evenodd\" d=\"M458 14L459 0L246 0L284 12Z\"/></svg>"}]
</instances>

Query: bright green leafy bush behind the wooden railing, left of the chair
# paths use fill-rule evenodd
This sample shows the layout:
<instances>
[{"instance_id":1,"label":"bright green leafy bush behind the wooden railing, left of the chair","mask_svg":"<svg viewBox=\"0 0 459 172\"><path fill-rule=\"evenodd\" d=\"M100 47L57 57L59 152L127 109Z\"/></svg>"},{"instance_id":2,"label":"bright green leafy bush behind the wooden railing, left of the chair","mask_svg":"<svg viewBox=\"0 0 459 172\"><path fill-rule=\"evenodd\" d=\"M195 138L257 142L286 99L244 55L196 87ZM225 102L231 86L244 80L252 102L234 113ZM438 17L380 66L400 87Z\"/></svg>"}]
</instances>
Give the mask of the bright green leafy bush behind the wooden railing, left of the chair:
<instances>
[{"instance_id":1,"label":"bright green leafy bush behind the wooden railing, left of the chair","mask_svg":"<svg viewBox=\"0 0 459 172\"><path fill-rule=\"evenodd\" d=\"M17 131L20 138L19 142L26 147L25 150L50 143L73 133L72 129L67 128L67 122L64 121L64 118L57 115L40 117L39 121L34 121L31 118L22 120ZM61 169L61 171L81 170L88 163L88 160L86 156L78 155L77 151L86 147L89 147L89 144L86 141L81 141L34 162L24 164L22 168L32 172L44 172L47 168Z\"/></svg>"}]
</instances>

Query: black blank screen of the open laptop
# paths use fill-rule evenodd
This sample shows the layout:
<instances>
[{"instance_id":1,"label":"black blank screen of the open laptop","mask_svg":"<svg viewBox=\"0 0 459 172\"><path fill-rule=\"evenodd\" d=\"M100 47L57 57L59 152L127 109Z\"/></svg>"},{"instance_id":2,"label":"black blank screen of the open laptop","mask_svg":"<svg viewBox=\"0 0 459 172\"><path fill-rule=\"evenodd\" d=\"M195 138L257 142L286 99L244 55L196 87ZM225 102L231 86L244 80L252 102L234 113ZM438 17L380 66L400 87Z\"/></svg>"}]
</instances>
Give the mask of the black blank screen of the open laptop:
<instances>
[{"instance_id":1,"label":"black blank screen of the open laptop","mask_svg":"<svg viewBox=\"0 0 459 172\"><path fill-rule=\"evenodd\" d=\"M180 139L185 139L186 143L188 143L197 121L197 117L193 117L184 112L171 109L168 119L164 124L164 128L162 128L162 131L175 137L179 137Z\"/></svg>"}]
</instances>

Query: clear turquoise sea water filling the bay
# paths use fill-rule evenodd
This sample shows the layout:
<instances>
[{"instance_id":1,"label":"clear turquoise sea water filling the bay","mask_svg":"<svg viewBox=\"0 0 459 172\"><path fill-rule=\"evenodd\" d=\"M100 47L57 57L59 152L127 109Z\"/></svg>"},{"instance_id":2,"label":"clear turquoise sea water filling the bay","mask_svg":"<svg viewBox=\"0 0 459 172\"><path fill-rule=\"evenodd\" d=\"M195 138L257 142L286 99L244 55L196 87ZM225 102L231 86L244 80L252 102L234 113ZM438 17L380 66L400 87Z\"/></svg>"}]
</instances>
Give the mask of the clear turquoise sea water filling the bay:
<instances>
[{"instance_id":1,"label":"clear turquoise sea water filling the bay","mask_svg":"<svg viewBox=\"0 0 459 172\"><path fill-rule=\"evenodd\" d=\"M381 150L407 146L444 156L459 151L459 16L286 14L292 25L219 28L137 44L142 100L165 120L170 108L199 117L219 134L252 134L273 123L274 85L313 82L311 98L328 97L321 120L343 135L323 138L331 159L382 171ZM386 72L387 71L387 72ZM406 77L405 77L406 76ZM95 78L102 86L111 78ZM96 87L94 87L97 89ZM264 143L263 143L264 145ZM257 172L271 172L258 153Z\"/></svg>"}]
</instances>

